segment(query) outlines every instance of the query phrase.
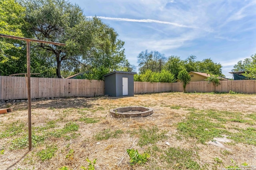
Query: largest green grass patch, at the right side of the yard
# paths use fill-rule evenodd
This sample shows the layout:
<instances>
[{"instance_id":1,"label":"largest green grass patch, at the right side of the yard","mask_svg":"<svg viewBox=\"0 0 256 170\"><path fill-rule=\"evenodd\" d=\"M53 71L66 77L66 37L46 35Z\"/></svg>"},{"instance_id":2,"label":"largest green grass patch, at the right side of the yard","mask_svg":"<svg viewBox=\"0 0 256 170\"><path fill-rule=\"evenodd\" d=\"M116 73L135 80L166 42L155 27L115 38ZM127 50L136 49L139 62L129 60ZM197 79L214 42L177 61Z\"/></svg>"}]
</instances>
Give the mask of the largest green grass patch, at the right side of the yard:
<instances>
[{"instance_id":1,"label":"largest green grass patch, at the right side of the yard","mask_svg":"<svg viewBox=\"0 0 256 170\"><path fill-rule=\"evenodd\" d=\"M244 119L244 115L240 112L215 110L191 111L186 118L182 122L177 123L178 134L184 137L192 137L200 143L205 143L214 137L228 135L230 139L233 139L237 143L256 145L255 128L248 127L242 129L234 127L239 132L232 133L225 127L225 124L229 122L255 124L253 120Z\"/></svg>"}]
</instances>

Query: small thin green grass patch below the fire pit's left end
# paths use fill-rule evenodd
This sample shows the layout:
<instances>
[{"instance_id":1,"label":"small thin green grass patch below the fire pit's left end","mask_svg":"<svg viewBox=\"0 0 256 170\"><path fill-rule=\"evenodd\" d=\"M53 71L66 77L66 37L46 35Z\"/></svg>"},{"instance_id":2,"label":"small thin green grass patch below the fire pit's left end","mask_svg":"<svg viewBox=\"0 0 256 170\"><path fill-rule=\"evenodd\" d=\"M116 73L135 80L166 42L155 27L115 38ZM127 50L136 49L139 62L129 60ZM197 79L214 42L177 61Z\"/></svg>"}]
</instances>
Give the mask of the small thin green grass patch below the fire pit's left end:
<instances>
[{"instance_id":1,"label":"small thin green grass patch below the fire pit's left end","mask_svg":"<svg viewBox=\"0 0 256 170\"><path fill-rule=\"evenodd\" d=\"M102 141L110 138L118 138L121 136L122 133L124 133L122 130L111 131L110 129L105 129L104 131L96 133L96 135L94 135L94 138L97 141Z\"/></svg>"}]
</instances>

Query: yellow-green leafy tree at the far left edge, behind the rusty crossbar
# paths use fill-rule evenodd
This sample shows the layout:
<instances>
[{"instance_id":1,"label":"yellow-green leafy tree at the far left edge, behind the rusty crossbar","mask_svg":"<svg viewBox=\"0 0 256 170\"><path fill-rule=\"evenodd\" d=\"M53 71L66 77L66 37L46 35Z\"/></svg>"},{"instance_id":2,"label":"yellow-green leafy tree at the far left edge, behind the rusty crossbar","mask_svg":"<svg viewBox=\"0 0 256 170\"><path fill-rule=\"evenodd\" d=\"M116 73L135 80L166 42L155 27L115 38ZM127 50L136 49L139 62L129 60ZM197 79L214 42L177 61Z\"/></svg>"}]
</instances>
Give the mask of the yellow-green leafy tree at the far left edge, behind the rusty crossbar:
<instances>
[{"instance_id":1,"label":"yellow-green leafy tree at the far left edge, behind the rusty crossbar","mask_svg":"<svg viewBox=\"0 0 256 170\"><path fill-rule=\"evenodd\" d=\"M23 37L22 26L25 8L15 0L0 0L0 33ZM0 74L24 72L26 70L24 43L14 39L0 38Z\"/></svg>"}]
</instances>

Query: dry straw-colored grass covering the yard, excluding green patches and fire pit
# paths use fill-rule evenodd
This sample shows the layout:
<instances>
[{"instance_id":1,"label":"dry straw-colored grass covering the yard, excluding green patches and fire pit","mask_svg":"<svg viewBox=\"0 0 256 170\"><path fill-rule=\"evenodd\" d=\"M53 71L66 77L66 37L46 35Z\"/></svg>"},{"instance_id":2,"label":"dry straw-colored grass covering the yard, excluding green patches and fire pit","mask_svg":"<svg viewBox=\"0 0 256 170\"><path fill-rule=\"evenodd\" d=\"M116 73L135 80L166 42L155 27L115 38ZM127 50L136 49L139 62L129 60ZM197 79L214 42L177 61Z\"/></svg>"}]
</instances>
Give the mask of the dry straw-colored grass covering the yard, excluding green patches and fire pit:
<instances>
[{"instance_id":1,"label":"dry straw-colored grass covering the yard, excluding green patches and fire pit","mask_svg":"<svg viewBox=\"0 0 256 170\"><path fill-rule=\"evenodd\" d=\"M242 142L234 142L227 145L232 151L212 145L198 143L197 139L180 135L177 130L177 123L185 121L190 114L190 109L216 111L240 112L244 117L255 115L256 96L246 94L184 94L184 93L158 93L142 94L126 98L59 98L54 100L37 100L32 102L32 131L36 135L47 136L44 141L38 143L30 152L28 148L10 149L12 141L26 135L27 106L26 103L9 105L12 112L0 115L0 135L6 131L11 123L17 123L24 127L22 131L14 136L0 139L0 169L38 169L53 170L63 166L72 170L79 170L81 166L88 166L86 158L96 160L96 170L126 170L126 169L165 169L165 164L161 159L165 150L170 147L192 150L192 159L196 161L202 169L222 169L232 165L231 158L238 165L243 162L249 165L256 165L256 146ZM148 117L138 118L112 118L109 110L124 106L145 106L154 110ZM2 108L7 106L2 106ZM83 118L83 119L81 119ZM86 118L86 119L85 119ZM91 119L89 119L91 118ZM250 119L246 117L246 119ZM82 121L83 120L83 121ZM90 121L96 120L91 123ZM86 122L89 121L89 122ZM238 128L256 128L256 120L250 119L251 123L227 122L225 127L234 133ZM54 127L48 127L49 122L54 122ZM64 129L68 122L79 126L78 131L72 131L56 137L49 135L51 131ZM45 127L45 130L38 130ZM158 127L159 132L165 131L166 139L159 140L156 144L149 144L140 147L137 140L134 149L140 153L151 152L148 162L142 166L130 166L129 158L126 154L120 166L116 163L126 149L132 147L133 142L140 138L139 129ZM102 131L110 130L113 133L122 131L117 137L98 141L95 135ZM179 139L179 140L178 140ZM166 145L166 141L170 146ZM58 150L50 160L42 161L38 152L50 146L56 146ZM161 151L155 151L158 148ZM70 150L73 150L71 154ZM67 156L69 155L69 156ZM220 158L222 163L216 164L214 158ZM184 167L181 167L184 169Z\"/></svg>"}]
</instances>

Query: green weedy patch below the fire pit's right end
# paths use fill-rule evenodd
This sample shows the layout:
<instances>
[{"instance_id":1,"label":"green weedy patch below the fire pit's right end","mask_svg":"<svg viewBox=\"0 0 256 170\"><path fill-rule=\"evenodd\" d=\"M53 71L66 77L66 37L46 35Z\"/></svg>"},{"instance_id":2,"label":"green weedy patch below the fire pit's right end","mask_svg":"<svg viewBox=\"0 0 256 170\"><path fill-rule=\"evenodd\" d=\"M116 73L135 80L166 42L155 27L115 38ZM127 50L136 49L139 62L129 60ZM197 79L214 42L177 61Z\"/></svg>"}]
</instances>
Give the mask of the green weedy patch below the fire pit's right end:
<instances>
[{"instance_id":1,"label":"green weedy patch below the fire pit's right end","mask_svg":"<svg viewBox=\"0 0 256 170\"><path fill-rule=\"evenodd\" d=\"M140 147L148 145L148 144L154 144L162 139L166 139L167 136L166 131L161 131L158 133L159 129L157 126L153 126L152 128L146 129L139 129L139 136L140 139L138 141L138 145Z\"/></svg>"}]
</instances>

